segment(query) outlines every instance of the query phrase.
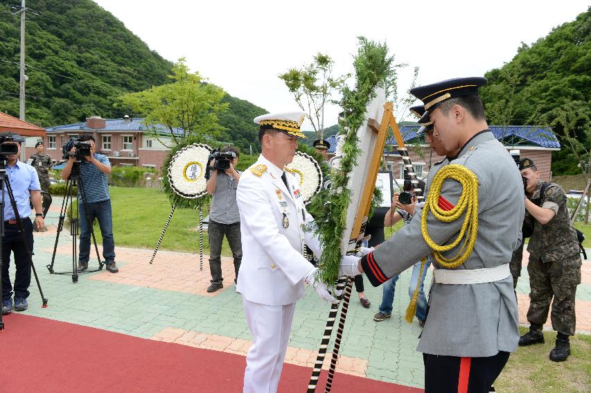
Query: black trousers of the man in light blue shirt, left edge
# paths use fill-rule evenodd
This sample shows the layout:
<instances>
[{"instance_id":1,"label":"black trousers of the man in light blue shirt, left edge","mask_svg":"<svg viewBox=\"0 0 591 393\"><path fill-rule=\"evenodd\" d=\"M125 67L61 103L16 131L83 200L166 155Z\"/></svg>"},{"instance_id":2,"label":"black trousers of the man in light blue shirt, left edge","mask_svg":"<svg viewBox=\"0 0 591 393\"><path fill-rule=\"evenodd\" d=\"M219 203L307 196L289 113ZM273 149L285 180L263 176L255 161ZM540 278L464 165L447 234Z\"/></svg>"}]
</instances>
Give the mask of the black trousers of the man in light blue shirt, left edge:
<instances>
[{"instance_id":1,"label":"black trousers of the man in light blue shirt, left edge","mask_svg":"<svg viewBox=\"0 0 591 393\"><path fill-rule=\"evenodd\" d=\"M30 218L22 220L25 236L30 252L33 252L33 222ZM30 285L30 261L26 252L24 241L19 231L19 225L4 223L4 238L2 240L2 299L12 296L12 283L8 274L10 266L10 254L15 254L15 297L26 299L29 295Z\"/></svg>"}]
</instances>

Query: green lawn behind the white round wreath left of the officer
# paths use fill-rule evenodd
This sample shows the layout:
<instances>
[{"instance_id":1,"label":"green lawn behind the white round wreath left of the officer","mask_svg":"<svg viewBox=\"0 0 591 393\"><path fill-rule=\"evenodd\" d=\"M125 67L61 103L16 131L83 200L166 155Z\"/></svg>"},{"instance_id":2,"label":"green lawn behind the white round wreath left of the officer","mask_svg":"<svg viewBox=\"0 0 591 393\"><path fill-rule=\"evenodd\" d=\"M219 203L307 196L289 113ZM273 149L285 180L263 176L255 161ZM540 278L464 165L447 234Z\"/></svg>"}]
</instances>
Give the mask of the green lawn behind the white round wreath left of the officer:
<instances>
[{"instance_id":1,"label":"green lawn behind the white round wreath left of the officer","mask_svg":"<svg viewBox=\"0 0 591 393\"><path fill-rule=\"evenodd\" d=\"M157 189L112 187L113 233L116 246L153 250L170 213L170 202ZM203 212L204 218L207 212ZM168 225L160 250L199 253L199 211L177 209ZM102 243L98 222L94 225L96 241ZM209 253L207 232L203 235L204 254ZM231 256L224 238L222 255Z\"/></svg>"}]
</instances>

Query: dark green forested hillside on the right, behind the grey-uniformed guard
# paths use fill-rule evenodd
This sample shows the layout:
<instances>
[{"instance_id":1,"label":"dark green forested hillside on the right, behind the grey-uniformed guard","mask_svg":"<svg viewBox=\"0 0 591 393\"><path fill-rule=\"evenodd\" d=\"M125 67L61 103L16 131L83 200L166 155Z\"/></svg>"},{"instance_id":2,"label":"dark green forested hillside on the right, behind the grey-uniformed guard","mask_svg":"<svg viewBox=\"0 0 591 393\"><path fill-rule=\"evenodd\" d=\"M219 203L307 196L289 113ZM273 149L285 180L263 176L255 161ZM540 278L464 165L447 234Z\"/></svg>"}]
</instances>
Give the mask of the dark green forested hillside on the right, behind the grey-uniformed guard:
<instances>
[{"instance_id":1,"label":"dark green forested hillside on the right, behind the grey-uniformed guard","mask_svg":"<svg viewBox=\"0 0 591 393\"><path fill-rule=\"evenodd\" d=\"M591 118L591 9L522 44L513 60L485 76L482 99L490 123L552 125L560 138L563 124L557 119L567 114L578 119L577 137L589 146L583 128ZM555 175L577 173L576 164L567 149L553 152Z\"/></svg>"}]
</instances>

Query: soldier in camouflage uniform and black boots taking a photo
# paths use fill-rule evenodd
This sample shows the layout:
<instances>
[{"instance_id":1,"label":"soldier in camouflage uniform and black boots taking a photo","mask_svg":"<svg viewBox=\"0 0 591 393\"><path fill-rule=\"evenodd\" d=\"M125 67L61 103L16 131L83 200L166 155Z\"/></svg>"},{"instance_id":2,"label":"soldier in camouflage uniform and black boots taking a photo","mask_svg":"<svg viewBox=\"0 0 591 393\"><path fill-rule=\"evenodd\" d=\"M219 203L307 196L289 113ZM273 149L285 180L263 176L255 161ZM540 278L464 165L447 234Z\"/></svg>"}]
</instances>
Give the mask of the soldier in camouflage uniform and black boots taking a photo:
<instances>
[{"instance_id":1,"label":"soldier in camouflage uniform and black boots taking a photo","mask_svg":"<svg viewBox=\"0 0 591 393\"><path fill-rule=\"evenodd\" d=\"M527 179L525 208L533 234L529 251L530 304L529 332L522 335L520 346L544 342L542 326L552 302L552 328L558 331L556 347L550 360L561 362L570 355L569 336L574 335L574 296L581 283L581 256L576 231L570 222L565 192L558 184L540 182L540 173L531 159L520 161L520 171ZM543 195L542 189L544 189Z\"/></svg>"}]
</instances>

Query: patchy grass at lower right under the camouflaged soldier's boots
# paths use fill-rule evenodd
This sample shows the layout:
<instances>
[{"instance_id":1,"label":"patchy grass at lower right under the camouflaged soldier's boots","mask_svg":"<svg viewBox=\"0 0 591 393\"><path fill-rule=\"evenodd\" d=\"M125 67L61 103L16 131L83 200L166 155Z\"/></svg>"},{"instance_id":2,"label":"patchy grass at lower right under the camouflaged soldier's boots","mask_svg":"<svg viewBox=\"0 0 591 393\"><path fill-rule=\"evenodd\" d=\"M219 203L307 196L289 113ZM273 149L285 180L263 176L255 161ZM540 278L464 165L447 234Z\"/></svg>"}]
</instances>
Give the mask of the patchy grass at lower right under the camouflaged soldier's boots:
<instances>
[{"instance_id":1,"label":"patchy grass at lower right under the camouflaged soldier's boots","mask_svg":"<svg viewBox=\"0 0 591 393\"><path fill-rule=\"evenodd\" d=\"M521 334L527 329L520 328ZM555 332L545 332L545 344L519 347L495 381L497 392L575 393L591 392L591 335L570 338L569 358L552 362Z\"/></svg>"}]
</instances>

